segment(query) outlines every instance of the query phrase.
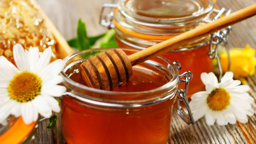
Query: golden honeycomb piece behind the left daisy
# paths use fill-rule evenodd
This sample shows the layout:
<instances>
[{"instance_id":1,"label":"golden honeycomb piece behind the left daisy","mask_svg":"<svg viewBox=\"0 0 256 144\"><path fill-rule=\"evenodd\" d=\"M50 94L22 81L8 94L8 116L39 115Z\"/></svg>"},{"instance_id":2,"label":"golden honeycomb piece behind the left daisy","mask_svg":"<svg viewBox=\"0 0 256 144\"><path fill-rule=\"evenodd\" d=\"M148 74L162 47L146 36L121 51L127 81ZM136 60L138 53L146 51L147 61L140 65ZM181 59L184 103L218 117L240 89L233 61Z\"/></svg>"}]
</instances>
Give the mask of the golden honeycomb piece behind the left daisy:
<instances>
[{"instance_id":1,"label":"golden honeycomb piece behind the left daisy","mask_svg":"<svg viewBox=\"0 0 256 144\"><path fill-rule=\"evenodd\" d=\"M0 0L0 55L14 63L12 48L17 43L40 52L52 48L52 60L56 59L57 42L37 5L31 0Z\"/></svg>"}]
</instances>

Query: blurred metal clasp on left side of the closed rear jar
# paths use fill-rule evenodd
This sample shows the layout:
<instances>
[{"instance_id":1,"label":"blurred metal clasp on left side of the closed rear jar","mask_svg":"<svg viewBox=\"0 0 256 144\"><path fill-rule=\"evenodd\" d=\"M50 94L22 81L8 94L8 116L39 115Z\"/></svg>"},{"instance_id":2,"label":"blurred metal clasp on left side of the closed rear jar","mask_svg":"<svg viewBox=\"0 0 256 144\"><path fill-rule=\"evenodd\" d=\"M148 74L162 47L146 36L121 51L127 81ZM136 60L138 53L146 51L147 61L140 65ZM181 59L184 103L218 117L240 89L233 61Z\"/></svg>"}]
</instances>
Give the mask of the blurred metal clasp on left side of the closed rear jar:
<instances>
[{"instance_id":1,"label":"blurred metal clasp on left side of the closed rear jar","mask_svg":"<svg viewBox=\"0 0 256 144\"><path fill-rule=\"evenodd\" d=\"M110 8L108 12L105 13L106 8ZM117 4L103 4L100 12L100 24L108 28L114 28L112 24L112 18L114 16L113 9L117 8Z\"/></svg>"}]
</instances>

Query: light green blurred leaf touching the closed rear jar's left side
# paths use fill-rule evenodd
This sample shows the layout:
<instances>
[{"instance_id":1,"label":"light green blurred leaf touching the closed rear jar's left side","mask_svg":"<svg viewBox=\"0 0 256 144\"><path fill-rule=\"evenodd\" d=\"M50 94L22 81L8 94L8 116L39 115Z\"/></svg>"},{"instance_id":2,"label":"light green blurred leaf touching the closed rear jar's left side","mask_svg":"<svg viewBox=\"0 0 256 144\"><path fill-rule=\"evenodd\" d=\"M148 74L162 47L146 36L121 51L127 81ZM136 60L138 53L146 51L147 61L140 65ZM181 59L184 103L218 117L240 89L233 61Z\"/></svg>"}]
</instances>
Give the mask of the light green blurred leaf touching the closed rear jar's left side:
<instances>
[{"instance_id":1,"label":"light green blurred leaf touching the closed rear jar's left side","mask_svg":"<svg viewBox=\"0 0 256 144\"><path fill-rule=\"evenodd\" d=\"M102 38L102 42L100 44L100 48L106 47L118 47L115 40L115 30L111 29L106 32L106 34Z\"/></svg>"}]
</instances>

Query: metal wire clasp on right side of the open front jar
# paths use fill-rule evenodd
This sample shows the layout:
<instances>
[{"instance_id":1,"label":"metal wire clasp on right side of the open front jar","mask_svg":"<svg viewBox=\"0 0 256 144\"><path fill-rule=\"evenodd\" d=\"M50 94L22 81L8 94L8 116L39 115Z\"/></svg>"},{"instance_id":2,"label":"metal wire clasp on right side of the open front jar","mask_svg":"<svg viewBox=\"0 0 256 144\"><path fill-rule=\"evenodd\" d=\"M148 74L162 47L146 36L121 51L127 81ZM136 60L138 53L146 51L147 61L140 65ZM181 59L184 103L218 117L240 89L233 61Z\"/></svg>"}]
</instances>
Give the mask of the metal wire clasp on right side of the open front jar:
<instances>
[{"instance_id":1,"label":"metal wire clasp on right side of the open front jar","mask_svg":"<svg viewBox=\"0 0 256 144\"><path fill-rule=\"evenodd\" d=\"M176 61L173 64L175 64L177 66L178 69L181 69L180 67L180 62ZM194 118L192 115L192 112L190 110L190 106L188 103L188 98L187 98L187 93L188 93L188 85L189 85L189 81L192 80L193 78L193 74L190 71L184 72L183 74L179 75L179 78L184 78L184 79L180 79L179 83L185 82L185 90L178 90L178 109L177 109L177 113L180 116L180 118L182 118L182 120L184 120L184 122L186 122L187 124L194 124ZM182 109L182 106L180 105L180 101L184 102L185 107L188 111L188 114Z\"/></svg>"}]
</instances>

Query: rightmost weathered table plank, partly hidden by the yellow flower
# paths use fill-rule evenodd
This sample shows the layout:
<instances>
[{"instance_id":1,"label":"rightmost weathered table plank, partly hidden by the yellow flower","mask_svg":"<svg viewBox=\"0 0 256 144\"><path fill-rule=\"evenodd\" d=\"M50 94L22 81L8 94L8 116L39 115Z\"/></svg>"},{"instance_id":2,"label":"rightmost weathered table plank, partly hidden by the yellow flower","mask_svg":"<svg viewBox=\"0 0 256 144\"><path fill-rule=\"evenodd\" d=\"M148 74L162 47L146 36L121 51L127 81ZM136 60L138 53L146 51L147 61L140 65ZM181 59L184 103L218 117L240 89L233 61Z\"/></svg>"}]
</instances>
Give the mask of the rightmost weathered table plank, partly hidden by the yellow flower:
<instances>
[{"instance_id":1,"label":"rightmost weathered table plank, partly hidden by the yellow flower","mask_svg":"<svg viewBox=\"0 0 256 144\"><path fill-rule=\"evenodd\" d=\"M219 6L231 8L232 11L239 10L245 6L255 4L256 0L217 0ZM232 26L233 30L230 34L231 47L244 47L250 44L256 48L256 17L240 22ZM250 95L256 100L256 75L248 78L248 85L250 86ZM255 107L255 106L254 106ZM256 143L256 116L249 118L248 123L238 123L241 131L246 136L246 139L252 143Z\"/></svg>"}]
</instances>

